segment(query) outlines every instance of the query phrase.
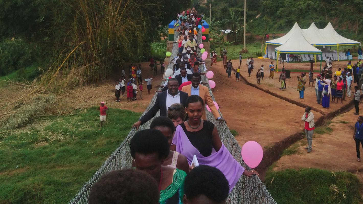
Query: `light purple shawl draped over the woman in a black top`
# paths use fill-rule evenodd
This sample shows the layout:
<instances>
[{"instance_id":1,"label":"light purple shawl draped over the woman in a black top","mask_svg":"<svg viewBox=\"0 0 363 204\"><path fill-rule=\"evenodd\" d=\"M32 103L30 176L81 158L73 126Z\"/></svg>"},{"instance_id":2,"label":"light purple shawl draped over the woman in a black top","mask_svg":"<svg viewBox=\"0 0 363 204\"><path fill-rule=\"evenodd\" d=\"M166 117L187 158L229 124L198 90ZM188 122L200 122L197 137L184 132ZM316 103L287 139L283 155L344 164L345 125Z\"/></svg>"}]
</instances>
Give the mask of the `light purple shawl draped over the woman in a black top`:
<instances>
[{"instance_id":1,"label":"light purple shawl draped over the woman in a black top","mask_svg":"<svg viewBox=\"0 0 363 204\"><path fill-rule=\"evenodd\" d=\"M217 152L213 148L212 154L208 157L201 155L188 140L187 135L180 125L176 127L173 144L176 145L176 151L183 154L188 159L189 165L192 163L193 156L196 155L199 165L213 166L223 172L229 183L229 192L232 191L242 173L245 171L245 168L232 157L231 153L229 153L228 149L223 144L221 149Z\"/></svg>"}]
</instances>

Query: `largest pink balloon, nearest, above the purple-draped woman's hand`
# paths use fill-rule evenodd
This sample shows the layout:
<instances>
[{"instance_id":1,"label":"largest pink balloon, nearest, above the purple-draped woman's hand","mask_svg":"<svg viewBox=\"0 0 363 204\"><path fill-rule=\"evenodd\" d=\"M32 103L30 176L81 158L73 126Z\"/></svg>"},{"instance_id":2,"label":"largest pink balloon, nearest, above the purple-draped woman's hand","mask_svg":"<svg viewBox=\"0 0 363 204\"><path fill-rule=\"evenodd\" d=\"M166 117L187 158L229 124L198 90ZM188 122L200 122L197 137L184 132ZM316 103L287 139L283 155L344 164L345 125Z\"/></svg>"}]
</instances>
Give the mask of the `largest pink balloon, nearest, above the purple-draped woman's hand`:
<instances>
[{"instance_id":1,"label":"largest pink balloon, nearest, above the purple-draped woman's hand","mask_svg":"<svg viewBox=\"0 0 363 204\"><path fill-rule=\"evenodd\" d=\"M264 151L259 143L248 141L242 146L242 159L250 168L256 168L262 161Z\"/></svg>"}]
</instances>

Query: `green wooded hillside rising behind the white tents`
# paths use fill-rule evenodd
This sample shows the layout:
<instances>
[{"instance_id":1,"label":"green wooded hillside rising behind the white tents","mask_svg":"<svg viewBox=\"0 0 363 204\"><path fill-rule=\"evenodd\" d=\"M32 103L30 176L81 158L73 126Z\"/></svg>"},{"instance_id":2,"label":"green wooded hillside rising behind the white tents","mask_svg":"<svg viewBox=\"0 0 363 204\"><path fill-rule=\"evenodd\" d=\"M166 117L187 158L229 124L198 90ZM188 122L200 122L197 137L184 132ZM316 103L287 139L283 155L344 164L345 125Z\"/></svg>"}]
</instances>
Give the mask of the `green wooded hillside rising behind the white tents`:
<instances>
[{"instance_id":1,"label":"green wooded hillside rising behind the white tents","mask_svg":"<svg viewBox=\"0 0 363 204\"><path fill-rule=\"evenodd\" d=\"M208 0L206 4L193 1L192 6L209 17L209 3L212 3L212 19L220 29L236 30L243 33L244 1ZM208 5L208 6L206 6ZM363 41L362 14L363 0L246 0L246 32L252 34L286 33L295 22L306 29L314 22L324 28L330 21L339 34ZM261 14L260 17L255 17ZM250 20L253 20L250 22ZM242 35L241 35L242 36ZM253 35L252 35L253 36ZM238 34L237 34L238 40Z\"/></svg>"}]
</instances>

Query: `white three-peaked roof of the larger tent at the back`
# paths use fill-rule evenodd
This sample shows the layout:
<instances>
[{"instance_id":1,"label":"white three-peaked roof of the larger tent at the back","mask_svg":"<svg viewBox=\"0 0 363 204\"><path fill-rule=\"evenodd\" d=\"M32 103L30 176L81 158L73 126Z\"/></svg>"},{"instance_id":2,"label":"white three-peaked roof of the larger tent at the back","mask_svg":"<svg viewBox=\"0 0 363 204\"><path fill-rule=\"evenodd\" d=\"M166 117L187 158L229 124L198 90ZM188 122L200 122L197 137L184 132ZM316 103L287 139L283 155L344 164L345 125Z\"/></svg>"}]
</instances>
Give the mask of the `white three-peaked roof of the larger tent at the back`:
<instances>
[{"instance_id":1,"label":"white three-peaked roof of the larger tent at the back","mask_svg":"<svg viewBox=\"0 0 363 204\"><path fill-rule=\"evenodd\" d=\"M297 29L297 27L299 29ZM331 23L329 22L328 25L323 28L319 29L315 26L314 22L310 25L307 29L301 29L297 23L293 26L293 28L281 38L273 39L270 41L266 41L266 44L270 45L282 45L285 42L287 42L288 39L291 38L291 36L296 35L298 30L301 31L302 36L305 38L307 42L309 42L311 45L317 45L317 46L323 46L323 45L329 45L329 46L336 46L336 45L359 45L360 42L354 41L348 38L344 38L343 36L339 35Z\"/></svg>"}]
</instances>

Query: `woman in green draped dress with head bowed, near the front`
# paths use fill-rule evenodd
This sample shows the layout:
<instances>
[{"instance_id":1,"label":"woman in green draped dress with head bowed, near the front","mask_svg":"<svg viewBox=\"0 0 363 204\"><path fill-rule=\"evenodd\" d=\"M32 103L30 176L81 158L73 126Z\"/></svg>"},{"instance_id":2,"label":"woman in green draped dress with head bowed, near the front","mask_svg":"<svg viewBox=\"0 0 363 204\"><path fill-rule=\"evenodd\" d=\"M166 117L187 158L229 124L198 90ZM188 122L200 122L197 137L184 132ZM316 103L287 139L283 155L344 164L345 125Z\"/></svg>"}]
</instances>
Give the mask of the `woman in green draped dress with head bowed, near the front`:
<instances>
[{"instance_id":1,"label":"woman in green draped dress with head bowed, near the front","mask_svg":"<svg viewBox=\"0 0 363 204\"><path fill-rule=\"evenodd\" d=\"M135 168L147 172L158 183L159 204L183 203L183 186L187 174L178 168L162 166L169 155L169 144L160 130L137 132L130 140L130 153L135 159Z\"/></svg>"}]
</instances>

